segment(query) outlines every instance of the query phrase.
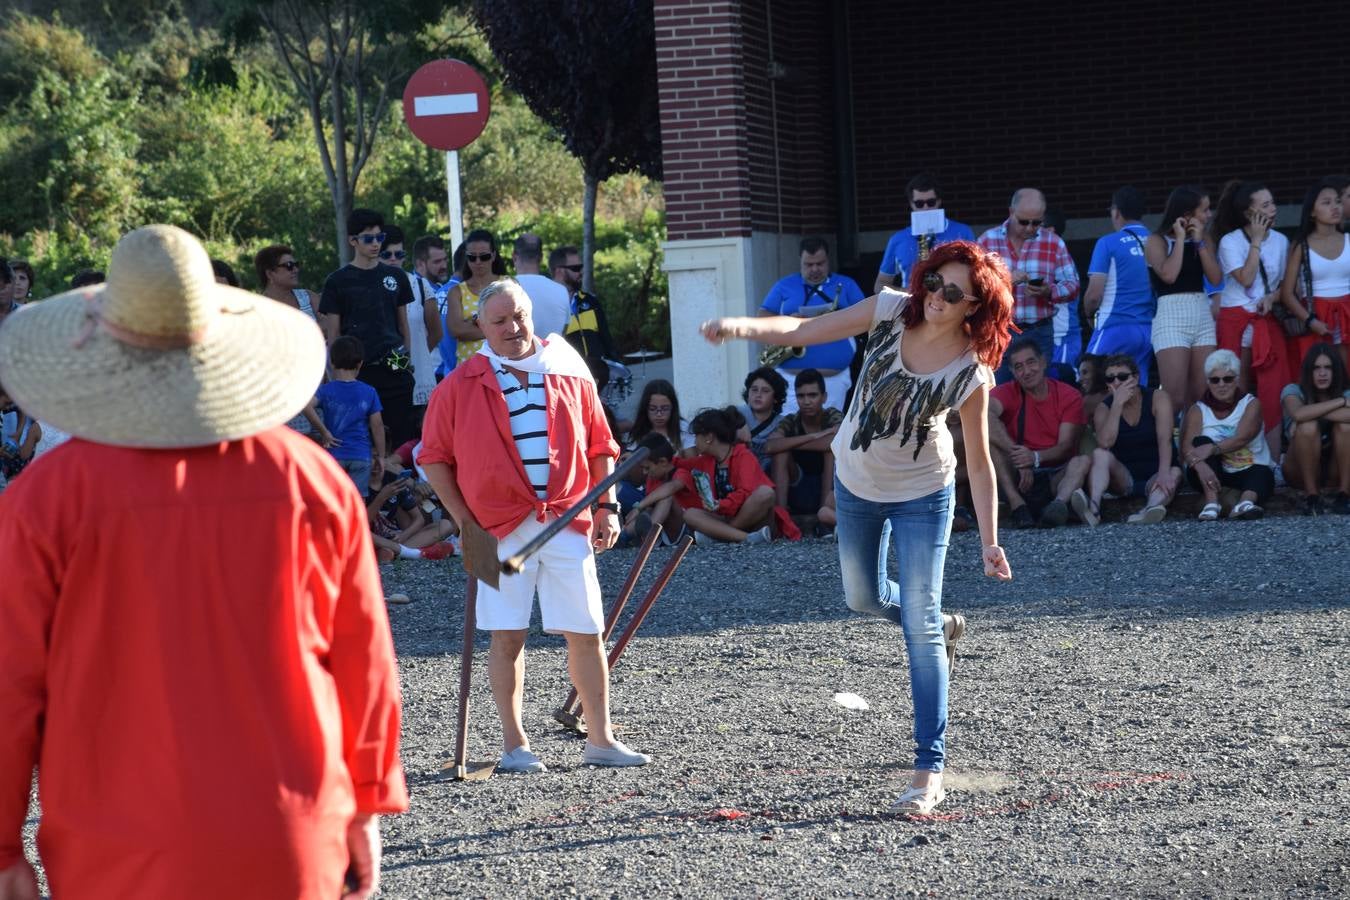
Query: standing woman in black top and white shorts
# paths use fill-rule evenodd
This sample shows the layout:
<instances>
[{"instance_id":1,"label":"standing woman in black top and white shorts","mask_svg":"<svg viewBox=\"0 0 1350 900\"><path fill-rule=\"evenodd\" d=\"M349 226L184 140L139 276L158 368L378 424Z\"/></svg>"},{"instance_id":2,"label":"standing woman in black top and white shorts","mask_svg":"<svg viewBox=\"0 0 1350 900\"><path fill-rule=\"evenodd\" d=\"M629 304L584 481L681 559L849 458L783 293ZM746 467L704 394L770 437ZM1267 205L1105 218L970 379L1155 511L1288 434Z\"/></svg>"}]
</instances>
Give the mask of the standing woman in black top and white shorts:
<instances>
[{"instance_id":1,"label":"standing woman in black top and white shorts","mask_svg":"<svg viewBox=\"0 0 1350 900\"><path fill-rule=\"evenodd\" d=\"M1143 246L1158 297L1153 354L1162 390L1177 403L1177 412L1204 393L1204 360L1218 347L1204 282L1219 285L1223 273L1215 248L1204 239L1208 224L1210 196L1204 189L1177 188Z\"/></svg>"}]
</instances>

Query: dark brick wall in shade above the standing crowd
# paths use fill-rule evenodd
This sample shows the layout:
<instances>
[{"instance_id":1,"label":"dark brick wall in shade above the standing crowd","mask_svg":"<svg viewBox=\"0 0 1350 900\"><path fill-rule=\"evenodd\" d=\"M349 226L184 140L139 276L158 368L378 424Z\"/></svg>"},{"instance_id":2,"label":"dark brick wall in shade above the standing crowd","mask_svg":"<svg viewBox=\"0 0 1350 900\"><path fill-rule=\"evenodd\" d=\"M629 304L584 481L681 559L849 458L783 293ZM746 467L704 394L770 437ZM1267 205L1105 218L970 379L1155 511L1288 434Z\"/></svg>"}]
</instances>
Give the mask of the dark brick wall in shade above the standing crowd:
<instances>
[{"instance_id":1,"label":"dark brick wall in shade above the standing crowd","mask_svg":"<svg viewBox=\"0 0 1350 900\"><path fill-rule=\"evenodd\" d=\"M1125 184L1152 212L1177 185L1231 177L1297 204L1350 169L1339 4L967 9L956 27L938 4L849 3L861 231L903 224L919 170L956 217L992 223L1021 185L1077 219L1104 217Z\"/></svg>"}]
</instances>

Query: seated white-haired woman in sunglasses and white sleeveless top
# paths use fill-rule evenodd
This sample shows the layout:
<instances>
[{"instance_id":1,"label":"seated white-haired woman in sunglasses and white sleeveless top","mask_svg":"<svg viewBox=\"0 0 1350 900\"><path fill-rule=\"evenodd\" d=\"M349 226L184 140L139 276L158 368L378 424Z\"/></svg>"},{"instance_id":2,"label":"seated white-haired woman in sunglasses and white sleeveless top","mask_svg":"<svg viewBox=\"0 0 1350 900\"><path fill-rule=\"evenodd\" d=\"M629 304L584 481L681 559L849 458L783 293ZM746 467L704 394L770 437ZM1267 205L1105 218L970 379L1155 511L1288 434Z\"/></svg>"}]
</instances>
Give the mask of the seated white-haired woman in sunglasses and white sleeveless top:
<instances>
[{"instance_id":1,"label":"seated white-haired woman in sunglasses and white sleeveless top","mask_svg":"<svg viewBox=\"0 0 1350 900\"><path fill-rule=\"evenodd\" d=\"M1204 494L1203 522L1219 518L1220 487L1241 493L1230 518L1261 518L1265 510L1260 505L1274 493L1261 401L1242 390L1241 375L1242 363L1231 349L1210 354L1204 360L1210 389L1187 410L1181 425L1181 461L1191 484Z\"/></svg>"}]
</instances>

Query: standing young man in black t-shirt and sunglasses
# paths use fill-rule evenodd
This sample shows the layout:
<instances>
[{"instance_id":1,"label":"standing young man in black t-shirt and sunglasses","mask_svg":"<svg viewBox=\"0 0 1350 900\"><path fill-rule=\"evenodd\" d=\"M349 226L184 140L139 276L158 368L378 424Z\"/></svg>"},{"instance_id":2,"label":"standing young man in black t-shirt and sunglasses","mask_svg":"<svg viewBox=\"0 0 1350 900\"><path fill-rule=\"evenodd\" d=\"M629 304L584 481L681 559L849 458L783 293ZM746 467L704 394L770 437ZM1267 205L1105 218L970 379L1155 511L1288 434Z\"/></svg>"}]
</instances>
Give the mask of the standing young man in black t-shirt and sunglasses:
<instances>
[{"instance_id":1,"label":"standing young man in black t-shirt and sunglasses","mask_svg":"<svg viewBox=\"0 0 1350 900\"><path fill-rule=\"evenodd\" d=\"M319 312L324 336L358 337L366 348L360 381L375 389L389 428L389 447L413 439L413 372L408 358L408 304L413 290L408 274L379 262L385 217L373 209L352 209L347 217L351 262L328 275Z\"/></svg>"}]
</instances>

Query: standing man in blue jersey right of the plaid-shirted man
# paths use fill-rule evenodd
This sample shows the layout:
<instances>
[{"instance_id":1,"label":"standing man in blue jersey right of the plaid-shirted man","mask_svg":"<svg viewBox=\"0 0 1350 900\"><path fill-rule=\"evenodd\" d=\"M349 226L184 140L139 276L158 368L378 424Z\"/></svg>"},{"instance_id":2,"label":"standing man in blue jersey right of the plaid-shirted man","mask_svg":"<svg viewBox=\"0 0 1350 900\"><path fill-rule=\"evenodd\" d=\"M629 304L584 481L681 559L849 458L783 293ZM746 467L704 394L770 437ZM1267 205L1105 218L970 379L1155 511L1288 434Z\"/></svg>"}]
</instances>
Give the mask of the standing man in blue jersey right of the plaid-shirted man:
<instances>
[{"instance_id":1,"label":"standing man in blue jersey right of the plaid-shirted man","mask_svg":"<svg viewBox=\"0 0 1350 900\"><path fill-rule=\"evenodd\" d=\"M1111 196L1115 231L1092 248L1083 314L1096 324L1088 352L1129 354L1139 364L1139 383L1146 385L1153 355L1154 298L1149 263L1143 259L1149 229L1141 219L1143 194L1137 188L1120 188Z\"/></svg>"}]
</instances>

